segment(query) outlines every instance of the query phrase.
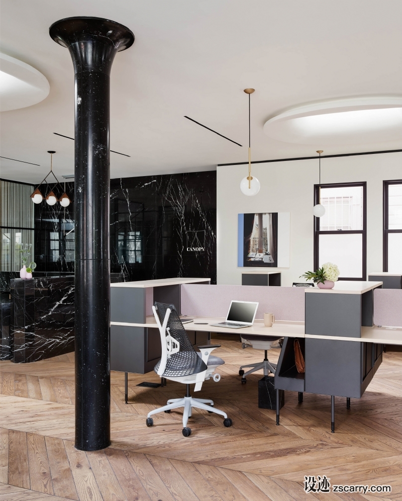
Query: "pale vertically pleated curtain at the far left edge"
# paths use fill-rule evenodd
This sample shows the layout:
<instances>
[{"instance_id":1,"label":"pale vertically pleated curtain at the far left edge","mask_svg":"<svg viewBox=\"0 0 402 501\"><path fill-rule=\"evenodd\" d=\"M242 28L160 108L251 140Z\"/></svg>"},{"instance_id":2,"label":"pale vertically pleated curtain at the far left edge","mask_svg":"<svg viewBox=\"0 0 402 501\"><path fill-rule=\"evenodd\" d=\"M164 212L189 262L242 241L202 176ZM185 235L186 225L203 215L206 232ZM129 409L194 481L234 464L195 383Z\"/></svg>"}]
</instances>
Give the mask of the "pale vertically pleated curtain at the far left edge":
<instances>
[{"instance_id":1,"label":"pale vertically pleated curtain at the far left edge","mask_svg":"<svg viewBox=\"0 0 402 501\"><path fill-rule=\"evenodd\" d=\"M22 268L18 252L22 243L32 244L30 261L34 260L34 204L32 185L0 181L0 270L19 271Z\"/></svg>"}]
</instances>

